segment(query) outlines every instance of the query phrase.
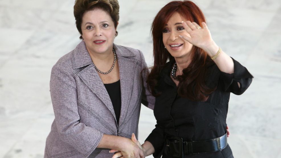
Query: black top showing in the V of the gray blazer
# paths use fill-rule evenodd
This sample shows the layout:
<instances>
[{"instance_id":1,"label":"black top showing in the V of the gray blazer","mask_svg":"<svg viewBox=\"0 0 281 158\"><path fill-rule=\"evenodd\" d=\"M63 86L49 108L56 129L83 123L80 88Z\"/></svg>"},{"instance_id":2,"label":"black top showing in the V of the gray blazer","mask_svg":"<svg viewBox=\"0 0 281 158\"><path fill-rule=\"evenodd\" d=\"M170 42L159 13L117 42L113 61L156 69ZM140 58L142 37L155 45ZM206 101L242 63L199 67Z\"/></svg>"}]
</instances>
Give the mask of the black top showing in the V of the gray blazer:
<instances>
[{"instance_id":1,"label":"black top showing in the V of the gray blazer","mask_svg":"<svg viewBox=\"0 0 281 158\"><path fill-rule=\"evenodd\" d=\"M114 83L104 84L104 87L106 88L106 91L112 102L117 124L119 124L119 118L120 118L120 112L121 112L120 80L118 80L117 82L114 82Z\"/></svg>"}]
</instances>

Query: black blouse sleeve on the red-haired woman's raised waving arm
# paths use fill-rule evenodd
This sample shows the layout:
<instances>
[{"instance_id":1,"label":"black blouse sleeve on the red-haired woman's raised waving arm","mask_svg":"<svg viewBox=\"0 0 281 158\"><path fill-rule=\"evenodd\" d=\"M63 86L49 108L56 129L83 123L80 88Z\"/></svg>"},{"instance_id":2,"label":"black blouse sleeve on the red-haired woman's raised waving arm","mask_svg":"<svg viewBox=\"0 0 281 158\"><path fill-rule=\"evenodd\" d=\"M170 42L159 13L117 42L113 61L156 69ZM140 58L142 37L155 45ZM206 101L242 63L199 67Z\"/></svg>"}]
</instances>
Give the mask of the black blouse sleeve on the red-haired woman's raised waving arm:
<instances>
[{"instance_id":1,"label":"black blouse sleeve on the red-haired woman's raised waving arm","mask_svg":"<svg viewBox=\"0 0 281 158\"><path fill-rule=\"evenodd\" d=\"M220 73L219 83L225 92L232 92L236 95L243 94L251 85L253 76L249 73L246 67L242 66L238 61L234 60L234 73ZM237 82L240 83L240 88Z\"/></svg>"}]
</instances>

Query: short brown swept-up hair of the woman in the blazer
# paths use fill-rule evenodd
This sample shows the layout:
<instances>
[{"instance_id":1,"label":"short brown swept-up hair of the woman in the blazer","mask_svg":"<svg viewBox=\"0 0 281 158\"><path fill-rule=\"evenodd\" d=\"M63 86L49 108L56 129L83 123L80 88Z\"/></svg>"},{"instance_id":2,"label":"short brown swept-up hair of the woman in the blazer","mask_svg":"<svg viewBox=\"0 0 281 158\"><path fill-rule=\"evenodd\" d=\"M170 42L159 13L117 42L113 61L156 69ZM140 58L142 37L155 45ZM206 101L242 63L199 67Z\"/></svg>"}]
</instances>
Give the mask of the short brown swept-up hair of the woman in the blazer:
<instances>
[{"instance_id":1,"label":"short brown swept-up hair of the woman in the blazer","mask_svg":"<svg viewBox=\"0 0 281 158\"><path fill-rule=\"evenodd\" d=\"M118 0L75 0L74 17L76 20L76 27L81 35L81 24L84 13L96 8L106 11L114 22L115 28L117 27L117 23L119 21ZM118 32L116 31L116 36L117 34ZM80 36L80 39L82 39L82 36Z\"/></svg>"}]
</instances>

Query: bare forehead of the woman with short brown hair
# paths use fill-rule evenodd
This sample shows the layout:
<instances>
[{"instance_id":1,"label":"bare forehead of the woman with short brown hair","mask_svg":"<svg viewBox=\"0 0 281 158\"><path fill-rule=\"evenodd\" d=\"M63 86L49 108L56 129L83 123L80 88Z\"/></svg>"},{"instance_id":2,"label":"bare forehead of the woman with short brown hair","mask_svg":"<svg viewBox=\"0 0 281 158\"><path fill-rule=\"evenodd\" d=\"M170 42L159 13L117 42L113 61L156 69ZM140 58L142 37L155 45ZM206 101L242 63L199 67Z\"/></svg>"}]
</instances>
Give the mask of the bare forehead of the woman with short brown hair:
<instances>
[{"instance_id":1,"label":"bare forehead of the woman with short brown hair","mask_svg":"<svg viewBox=\"0 0 281 158\"><path fill-rule=\"evenodd\" d=\"M82 20L83 22L95 22L95 21L98 22L98 21L104 21L104 20L107 20L107 21L111 20L112 21L110 15L106 11L104 11L100 8L96 8L96 9L93 9L93 10L90 10L90 11L86 11L84 13L82 19L83 19Z\"/></svg>"}]
</instances>

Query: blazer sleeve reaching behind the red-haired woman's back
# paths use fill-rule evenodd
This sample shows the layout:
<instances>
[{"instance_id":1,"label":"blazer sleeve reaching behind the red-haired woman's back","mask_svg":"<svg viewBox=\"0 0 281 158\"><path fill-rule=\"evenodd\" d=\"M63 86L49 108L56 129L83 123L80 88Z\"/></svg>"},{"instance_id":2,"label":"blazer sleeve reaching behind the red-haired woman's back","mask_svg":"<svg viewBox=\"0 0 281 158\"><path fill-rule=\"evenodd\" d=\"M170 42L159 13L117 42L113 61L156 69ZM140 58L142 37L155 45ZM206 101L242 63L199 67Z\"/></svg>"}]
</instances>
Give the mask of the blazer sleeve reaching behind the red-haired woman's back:
<instances>
[{"instance_id":1,"label":"blazer sleeve reaching behind the red-haired woman's back","mask_svg":"<svg viewBox=\"0 0 281 158\"><path fill-rule=\"evenodd\" d=\"M141 103L153 110L155 104L155 97L150 93L146 83L147 76L149 74L149 69L145 62L145 58L140 50L139 53L141 56L141 77L142 77L142 84L143 84Z\"/></svg>"}]
</instances>

